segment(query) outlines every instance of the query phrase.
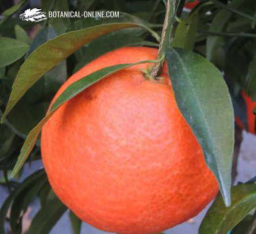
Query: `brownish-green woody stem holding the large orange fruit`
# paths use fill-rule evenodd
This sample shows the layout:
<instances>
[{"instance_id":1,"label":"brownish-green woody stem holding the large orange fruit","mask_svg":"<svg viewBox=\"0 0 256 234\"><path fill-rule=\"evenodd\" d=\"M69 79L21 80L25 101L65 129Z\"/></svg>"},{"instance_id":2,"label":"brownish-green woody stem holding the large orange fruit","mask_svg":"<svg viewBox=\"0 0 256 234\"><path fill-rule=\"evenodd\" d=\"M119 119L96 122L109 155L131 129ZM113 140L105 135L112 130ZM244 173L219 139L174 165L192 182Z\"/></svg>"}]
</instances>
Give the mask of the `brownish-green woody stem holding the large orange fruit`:
<instances>
[{"instance_id":1,"label":"brownish-green woody stem holding the large orange fruit","mask_svg":"<svg viewBox=\"0 0 256 234\"><path fill-rule=\"evenodd\" d=\"M165 12L165 20L163 22L163 30L161 31L161 41L160 47L158 50L158 62L156 66L150 69L150 75L152 77L157 77L161 69L163 68L165 62L165 54L167 49L171 45L171 39L173 37L173 29L175 24L175 15L177 12L177 6L179 6L180 0L167 0L166 1L166 12Z\"/></svg>"}]
</instances>

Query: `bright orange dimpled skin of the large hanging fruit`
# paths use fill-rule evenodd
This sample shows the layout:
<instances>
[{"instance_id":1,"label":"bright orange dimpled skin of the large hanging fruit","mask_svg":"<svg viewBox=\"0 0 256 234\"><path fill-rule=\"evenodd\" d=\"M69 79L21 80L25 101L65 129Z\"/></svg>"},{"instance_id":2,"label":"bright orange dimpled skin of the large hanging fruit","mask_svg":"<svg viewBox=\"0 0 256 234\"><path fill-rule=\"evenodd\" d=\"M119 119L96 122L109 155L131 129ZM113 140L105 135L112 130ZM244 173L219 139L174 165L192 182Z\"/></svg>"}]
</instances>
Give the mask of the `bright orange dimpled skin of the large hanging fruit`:
<instances>
[{"instance_id":1,"label":"bright orange dimpled skin of the large hanging fruit","mask_svg":"<svg viewBox=\"0 0 256 234\"><path fill-rule=\"evenodd\" d=\"M156 57L157 50L146 47L108 52L72 75L54 100L100 68ZM171 86L144 79L140 69L149 65L87 88L43 127L43 164L54 192L104 231L163 231L198 214L218 191ZM167 77L166 66L160 76Z\"/></svg>"}]
</instances>

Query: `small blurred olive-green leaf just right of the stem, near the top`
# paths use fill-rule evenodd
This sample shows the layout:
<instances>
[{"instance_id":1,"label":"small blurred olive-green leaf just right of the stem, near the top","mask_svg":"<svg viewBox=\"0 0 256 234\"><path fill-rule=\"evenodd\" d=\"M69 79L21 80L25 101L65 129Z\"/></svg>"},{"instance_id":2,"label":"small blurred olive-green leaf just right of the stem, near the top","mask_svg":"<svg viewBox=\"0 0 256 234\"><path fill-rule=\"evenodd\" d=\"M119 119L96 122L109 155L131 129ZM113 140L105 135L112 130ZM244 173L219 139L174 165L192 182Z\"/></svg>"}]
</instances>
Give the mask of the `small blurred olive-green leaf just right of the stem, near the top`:
<instances>
[{"instance_id":1,"label":"small blurred olive-green leaf just right of the stem, near the top","mask_svg":"<svg viewBox=\"0 0 256 234\"><path fill-rule=\"evenodd\" d=\"M198 22L198 14L190 14L185 20L182 20L178 24L171 47L193 50L198 31Z\"/></svg>"}]
</instances>

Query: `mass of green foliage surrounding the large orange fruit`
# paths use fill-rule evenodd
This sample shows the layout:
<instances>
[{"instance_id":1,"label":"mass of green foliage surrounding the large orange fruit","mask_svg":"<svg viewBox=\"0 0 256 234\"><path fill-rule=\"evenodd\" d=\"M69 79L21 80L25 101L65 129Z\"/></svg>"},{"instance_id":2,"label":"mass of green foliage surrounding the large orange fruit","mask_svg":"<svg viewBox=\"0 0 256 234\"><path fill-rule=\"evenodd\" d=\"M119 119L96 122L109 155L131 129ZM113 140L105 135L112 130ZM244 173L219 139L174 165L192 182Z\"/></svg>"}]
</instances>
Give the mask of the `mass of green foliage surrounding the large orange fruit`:
<instances>
[{"instance_id":1,"label":"mass of green foliage surrounding the large orange fruit","mask_svg":"<svg viewBox=\"0 0 256 234\"><path fill-rule=\"evenodd\" d=\"M56 90L67 77L110 50L158 47L166 1L42 0L45 12L103 9L119 10L120 14L118 18L49 18L41 22L19 19L31 7L29 1L21 0L16 5L2 2L0 189L7 189L9 196L0 210L0 233L7 233L7 222L13 233L21 233L22 218L35 199L39 199L41 209L28 233L49 233L66 206L54 195L43 169L23 181L11 178L12 169L12 174L19 178L24 163L41 160L37 136L58 106L110 73L134 64L104 68L74 83L45 116ZM197 136L224 197L223 200L218 195L199 233L225 233L231 229L232 233L239 233L241 227L249 229L255 222L255 215L250 214L256 207L253 181L232 187L231 206L224 204L230 205L233 115L247 126L241 90L256 101L256 1L202 0L190 12L182 8L192 0L180 2L171 41L171 47L177 48L168 50L167 66L173 76L171 83L178 106ZM213 80L218 81L216 86ZM223 81L228 84L234 113ZM81 220L71 211L69 214L74 233L80 233Z\"/></svg>"}]
</instances>

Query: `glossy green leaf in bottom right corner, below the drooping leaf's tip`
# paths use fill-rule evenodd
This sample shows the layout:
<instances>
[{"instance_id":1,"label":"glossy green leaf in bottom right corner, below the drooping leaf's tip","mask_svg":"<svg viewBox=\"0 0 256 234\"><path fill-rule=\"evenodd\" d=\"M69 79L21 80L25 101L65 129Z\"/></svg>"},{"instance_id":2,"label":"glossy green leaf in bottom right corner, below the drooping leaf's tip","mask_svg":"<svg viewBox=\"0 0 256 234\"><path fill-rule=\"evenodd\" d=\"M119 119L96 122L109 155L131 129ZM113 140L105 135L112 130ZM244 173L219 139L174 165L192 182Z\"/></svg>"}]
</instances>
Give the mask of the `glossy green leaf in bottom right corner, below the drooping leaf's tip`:
<instances>
[{"instance_id":1,"label":"glossy green leaf in bottom right corner, below the drooping leaf's tip","mask_svg":"<svg viewBox=\"0 0 256 234\"><path fill-rule=\"evenodd\" d=\"M199 234L223 234L256 208L256 184L238 184L231 189L232 205L226 207L221 195L207 211Z\"/></svg>"}]
</instances>

